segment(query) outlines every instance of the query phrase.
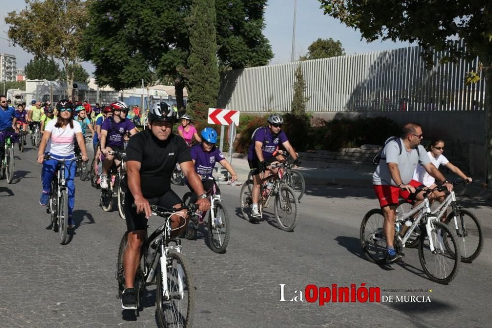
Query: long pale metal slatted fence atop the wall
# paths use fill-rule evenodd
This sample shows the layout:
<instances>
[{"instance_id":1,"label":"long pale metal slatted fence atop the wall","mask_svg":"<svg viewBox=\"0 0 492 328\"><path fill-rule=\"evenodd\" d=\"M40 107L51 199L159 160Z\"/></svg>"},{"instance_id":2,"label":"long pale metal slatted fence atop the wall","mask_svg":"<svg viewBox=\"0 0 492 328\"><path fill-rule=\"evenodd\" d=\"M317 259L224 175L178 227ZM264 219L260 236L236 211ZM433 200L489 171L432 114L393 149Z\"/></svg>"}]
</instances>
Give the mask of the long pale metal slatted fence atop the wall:
<instances>
[{"instance_id":1,"label":"long pale metal slatted fence atop the wall","mask_svg":"<svg viewBox=\"0 0 492 328\"><path fill-rule=\"evenodd\" d=\"M462 41L456 47L464 46ZM419 46L289 64L231 70L221 75L218 105L246 112L290 111L294 72L302 67L309 112L483 110L485 82L465 85L469 62L427 69Z\"/></svg>"}]
</instances>

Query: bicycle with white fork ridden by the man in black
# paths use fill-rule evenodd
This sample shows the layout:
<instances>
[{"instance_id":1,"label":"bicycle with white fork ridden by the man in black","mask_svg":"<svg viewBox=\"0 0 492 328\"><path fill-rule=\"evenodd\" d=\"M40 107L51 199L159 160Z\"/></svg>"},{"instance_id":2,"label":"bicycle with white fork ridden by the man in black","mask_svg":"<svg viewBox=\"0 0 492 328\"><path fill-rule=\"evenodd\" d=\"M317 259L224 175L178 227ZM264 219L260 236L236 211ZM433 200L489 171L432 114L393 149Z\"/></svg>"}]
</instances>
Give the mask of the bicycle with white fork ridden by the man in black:
<instances>
[{"instance_id":1,"label":"bicycle with white fork ridden by the man in black","mask_svg":"<svg viewBox=\"0 0 492 328\"><path fill-rule=\"evenodd\" d=\"M132 206L134 207L135 204L132 204ZM135 275L134 286L138 311L145 287L157 284L156 314L160 327L192 326L194 285L189 275L189 266L181 252L181 240L171 238L170 218L171 215L183 209L193 213L195 208L195 204L189 204L178 209L151 205L153 214L164 218L165 223L149 237L146 233L145 241L141 248L140 265ZM183 217L183 219L184 224L186 224L186 218ZM128 232L123 234L118 251L116 279L120 298L125 286L123 254L126 249L127 235ZM169 245L171 242L176 245Z\"/></svg>"}]
</instances>

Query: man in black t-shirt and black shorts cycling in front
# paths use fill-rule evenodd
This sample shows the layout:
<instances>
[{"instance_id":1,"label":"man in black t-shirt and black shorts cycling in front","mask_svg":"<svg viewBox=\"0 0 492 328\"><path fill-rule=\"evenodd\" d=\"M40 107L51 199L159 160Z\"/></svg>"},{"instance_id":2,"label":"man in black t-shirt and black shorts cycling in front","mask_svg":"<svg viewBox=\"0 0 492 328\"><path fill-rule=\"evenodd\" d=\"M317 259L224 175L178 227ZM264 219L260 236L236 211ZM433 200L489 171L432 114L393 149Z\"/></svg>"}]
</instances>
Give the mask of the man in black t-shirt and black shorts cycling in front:
<instances>
[{"instance_id":1,"label":"man in black t-shirt and black shorts cycling in front","mask_svg":"<svg viewBox=\"0 0 492 328\"><path fill-rule=\"evenodd\" d=\"M156 103L149 110L150 129L130 138L126 149L127 186L125 193L125 217L128 244L123 255L125 290L123 309L136 309L134 285L135 273L140 262L140 248L145 239L147 219L151 216L150 204L167 208L182 207L181 198L171 190L171 175L176 163L193 190L200 195L197 204L201 211L210 208L210 201L203 190L200 178L193 169L193 162L183 138L172 133L176 115L165 102ZM131 205L135 204L136 208ZM186 211L171 216L171 235L177 236L186 229Z\"/></svg>"}]
</instances>

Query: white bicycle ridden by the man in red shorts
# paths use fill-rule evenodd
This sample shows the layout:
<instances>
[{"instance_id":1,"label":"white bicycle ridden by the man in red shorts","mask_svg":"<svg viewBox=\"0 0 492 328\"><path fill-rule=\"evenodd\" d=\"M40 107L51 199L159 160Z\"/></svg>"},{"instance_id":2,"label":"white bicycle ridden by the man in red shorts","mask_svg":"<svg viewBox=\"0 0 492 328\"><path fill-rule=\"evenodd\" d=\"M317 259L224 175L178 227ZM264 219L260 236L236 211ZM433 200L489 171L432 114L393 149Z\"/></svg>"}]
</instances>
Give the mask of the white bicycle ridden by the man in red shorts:
<instances>
[{"instance_id":1,"label":"white bicycle ridden by the man in red shorts","mask_svg":"<svg viewBox=\"0 0 492 328\"><path fill-rule=\"evenodd\" d=\"M419 261L431 281L448 284L457 275L460 249L456 233L440 222L431 213L429 195L433 190L442 191L444 187L428 189L424 201L395 222L394 247L401 254L412 232L419 227L423 235L419 238ZM422 189L417 188L417 191ZM414 215L417 216L414 218ZM370 262L382 265L386 262L387 248L383 231L384 216L380 208L370 210L364 216L360 229L361 246ZM401 230L400 230L401 229Z\"/></svg>"}]
</instances>

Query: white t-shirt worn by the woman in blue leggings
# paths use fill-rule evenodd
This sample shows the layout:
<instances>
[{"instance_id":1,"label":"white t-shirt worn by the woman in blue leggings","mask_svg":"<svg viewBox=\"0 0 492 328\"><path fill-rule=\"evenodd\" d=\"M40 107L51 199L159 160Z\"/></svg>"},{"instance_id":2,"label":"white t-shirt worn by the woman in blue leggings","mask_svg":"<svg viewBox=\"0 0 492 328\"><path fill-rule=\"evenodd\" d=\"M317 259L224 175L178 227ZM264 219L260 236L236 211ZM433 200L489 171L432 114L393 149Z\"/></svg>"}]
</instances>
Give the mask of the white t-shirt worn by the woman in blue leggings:
<instances>
[{"instance_id":1,"label":"white t-shirt worn by the woman in blue leggings","mask_svg":"<svg viewBox=\"0 0 492 328\"><path fill-rule=\"evenodd\" d=\"M75 133L82 133L82 128L77 122L73 122L73 129L67 125L65 129L55 128L57 120L51 120L46 124L44 131L51 133L46 152L50 154L67 157L74 156L74 138Z\"/></svg>"}]
</instances>

